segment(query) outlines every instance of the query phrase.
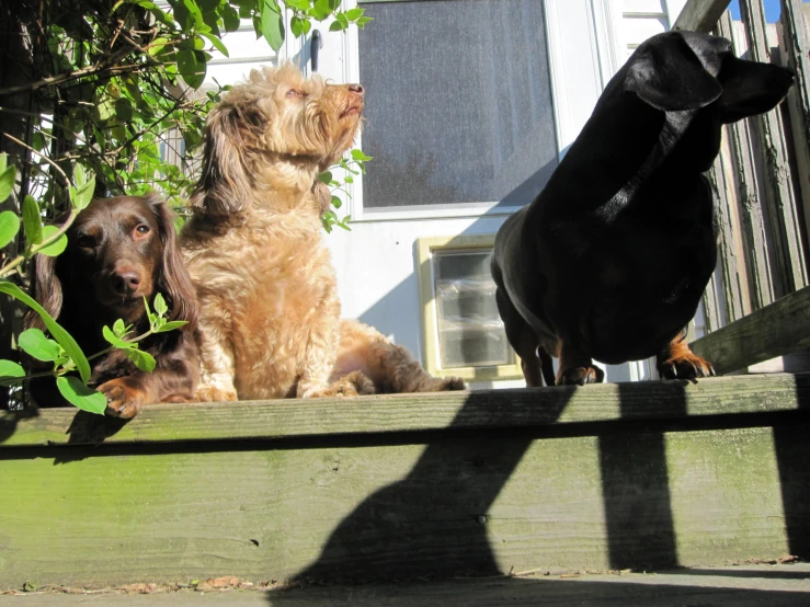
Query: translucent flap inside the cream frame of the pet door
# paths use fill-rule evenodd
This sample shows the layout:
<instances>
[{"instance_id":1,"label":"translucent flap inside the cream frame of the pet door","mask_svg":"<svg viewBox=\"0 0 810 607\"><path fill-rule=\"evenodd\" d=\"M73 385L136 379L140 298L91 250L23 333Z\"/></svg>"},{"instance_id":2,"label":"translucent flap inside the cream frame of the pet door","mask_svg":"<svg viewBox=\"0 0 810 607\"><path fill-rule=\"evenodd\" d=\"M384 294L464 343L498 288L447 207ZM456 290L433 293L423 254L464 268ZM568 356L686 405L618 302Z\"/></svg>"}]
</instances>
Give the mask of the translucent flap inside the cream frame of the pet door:
<instances>
[{"instance_id":1,"label":"translucent flap inside the cream frame of the pet door","mask_svg":"<svg viewBox=\"0 0 810 607\"><path fill-rule=\"evenodd\" d=\"M443 369L514 364L495 306L488 251L434 252L438 358Z\"/></svg>"}]
</instances>

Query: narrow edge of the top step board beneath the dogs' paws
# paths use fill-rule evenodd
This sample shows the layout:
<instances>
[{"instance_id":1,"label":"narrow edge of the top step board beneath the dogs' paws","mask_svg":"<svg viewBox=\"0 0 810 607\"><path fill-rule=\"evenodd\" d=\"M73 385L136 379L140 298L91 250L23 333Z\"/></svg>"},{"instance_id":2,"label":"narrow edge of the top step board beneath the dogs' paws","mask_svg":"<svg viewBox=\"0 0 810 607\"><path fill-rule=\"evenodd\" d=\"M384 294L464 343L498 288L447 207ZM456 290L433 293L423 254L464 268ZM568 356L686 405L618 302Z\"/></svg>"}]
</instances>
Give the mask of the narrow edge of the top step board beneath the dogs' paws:
<instances>
[{"instance_id":1,"label":"narrow edge of the top step board beneath the dogs' paws","mask_svg":"<svg viewBox=\"0 0 810 607\"><path fill-rule=\"evenodd\" d=\"M807 296L805 291L802 301L807 302ZM805 334L810 335L810 331ZM695 343L703 344L706 339ZM711 356L709 359L715 362ZM725 360L722 356L719 359L721 364ZM0 414L0 451L101 442L286 439L766 413L796 410L802 398L810 398L810 374L708 378L696 385L673 380L354 399L155 404L126 424L72 408L43 409L34 415Z\"/></svg>"}]
</instances>

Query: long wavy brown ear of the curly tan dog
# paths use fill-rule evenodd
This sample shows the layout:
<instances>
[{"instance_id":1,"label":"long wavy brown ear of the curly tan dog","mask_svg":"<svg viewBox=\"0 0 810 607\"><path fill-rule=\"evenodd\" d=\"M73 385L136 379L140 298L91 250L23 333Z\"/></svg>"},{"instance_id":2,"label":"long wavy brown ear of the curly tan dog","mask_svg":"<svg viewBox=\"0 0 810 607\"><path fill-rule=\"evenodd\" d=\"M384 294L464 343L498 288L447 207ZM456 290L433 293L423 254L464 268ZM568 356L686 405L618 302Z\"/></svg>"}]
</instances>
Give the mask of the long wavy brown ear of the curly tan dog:
<instances>
[{"instance_id":1,"label":"long wavy brown ear of the curly tan dog","mask_svg":"<svg viewBox=\"0 0 810 607\"><path fill-rule=\"evenodd\" d=\"M235 107L215 108L205 127L203 174L192 193L192 206L206 215L238 215L249 199L240 117Z\"/></svg>"}]
</instances>

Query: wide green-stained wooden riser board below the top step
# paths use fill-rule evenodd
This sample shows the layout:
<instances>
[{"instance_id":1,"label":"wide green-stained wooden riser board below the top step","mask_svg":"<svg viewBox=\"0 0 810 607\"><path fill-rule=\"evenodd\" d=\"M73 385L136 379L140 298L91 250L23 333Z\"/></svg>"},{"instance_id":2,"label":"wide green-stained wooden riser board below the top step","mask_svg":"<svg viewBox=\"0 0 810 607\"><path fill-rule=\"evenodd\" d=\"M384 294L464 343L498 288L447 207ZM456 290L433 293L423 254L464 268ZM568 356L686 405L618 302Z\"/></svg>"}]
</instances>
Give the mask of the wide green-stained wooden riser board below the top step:
<instances>
[{"instance_id":1,"label":"wide green-stained wooden riser board below the top step","mask_svg":"<svg viewBox=\"0 0 810 607\"><path fill-rule=\"evenodd\" d=\"M776 558L791 541L786 513L810 517L810 424L769 423L778 445L772 427L630 426L426 446L7 449L0 588Z\"/></svg>"}]
</instances>

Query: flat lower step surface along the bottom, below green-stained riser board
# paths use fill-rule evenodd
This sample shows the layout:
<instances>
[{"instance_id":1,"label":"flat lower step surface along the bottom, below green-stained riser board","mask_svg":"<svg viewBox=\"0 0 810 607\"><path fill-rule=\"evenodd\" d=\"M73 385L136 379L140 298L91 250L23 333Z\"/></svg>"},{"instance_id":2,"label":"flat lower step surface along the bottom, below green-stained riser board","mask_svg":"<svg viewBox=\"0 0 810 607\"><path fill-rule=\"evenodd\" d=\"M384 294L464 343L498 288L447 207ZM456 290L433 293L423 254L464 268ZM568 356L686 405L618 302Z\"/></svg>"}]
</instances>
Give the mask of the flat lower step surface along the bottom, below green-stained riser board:
<instances>
[{"instance_id":1,"label":"flat lower step surface along the bottom, below green-stained riser board","mask_svg":"<svg viewBox=\"0 0 810 607\"><path fill-rule=\"evenodd\" d=\"M365 586L121 594L0 595L0 607L513 607L528 605L810 606L810 563L681 569L653 574L487 577Z\"/></svg>"}]
</instances>

